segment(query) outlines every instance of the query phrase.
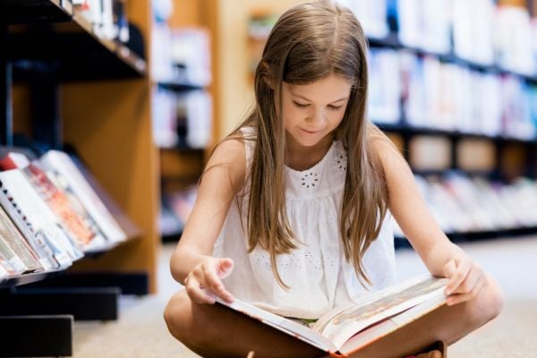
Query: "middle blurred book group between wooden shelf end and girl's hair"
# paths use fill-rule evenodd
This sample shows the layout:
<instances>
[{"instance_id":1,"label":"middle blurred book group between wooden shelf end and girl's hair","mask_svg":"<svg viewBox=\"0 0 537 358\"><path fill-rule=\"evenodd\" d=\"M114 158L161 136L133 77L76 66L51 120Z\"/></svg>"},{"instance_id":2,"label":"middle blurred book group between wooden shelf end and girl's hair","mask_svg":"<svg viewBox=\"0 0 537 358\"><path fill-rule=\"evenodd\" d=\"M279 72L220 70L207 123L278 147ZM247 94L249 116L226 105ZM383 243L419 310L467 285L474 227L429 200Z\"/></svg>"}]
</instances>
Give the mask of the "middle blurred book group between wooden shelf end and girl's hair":
<instances>
[{"instance_id":1,"label":"middle blurred book group between wooden shelf end and girl's hair","mask_svg":"<svg viewBox=\"0 0 537 358\"><path fill-rule=\"evenodd\" d=\"M159 148L205 149L212 138L212 98L206 90L153 89L153 137Z\"/></svg>"}]
</instances>

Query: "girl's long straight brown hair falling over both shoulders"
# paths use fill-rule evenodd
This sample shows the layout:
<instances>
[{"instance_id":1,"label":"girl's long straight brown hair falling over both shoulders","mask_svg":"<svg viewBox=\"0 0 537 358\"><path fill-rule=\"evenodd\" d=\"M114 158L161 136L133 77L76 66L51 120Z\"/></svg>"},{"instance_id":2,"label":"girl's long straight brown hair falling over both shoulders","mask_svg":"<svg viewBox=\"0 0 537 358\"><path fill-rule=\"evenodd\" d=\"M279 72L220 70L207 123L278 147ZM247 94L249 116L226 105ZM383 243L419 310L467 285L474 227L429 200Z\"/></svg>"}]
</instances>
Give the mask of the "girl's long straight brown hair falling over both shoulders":
<instances>
[{"instance_id":1,"label":"girl's long straight brown hair falling over both shoulders","mask_svg":"<svg viewBox=\"0 0 537 358\"><path fill-rule=\"evenodd\" d=\"M249 251L260 245L269 252L272 270L281 286L286 287L277 272L277 254L292 251L297 243L286 214L282 82L306 84L331 73L352 83L344 119L334 132L335 139L342 141L347 150L339 232L345 259L352 260L362 283L370 283L362 257L379 235L387 212L388 190L372 148L374 138L382 134L365 117L366 51L362 26L348 9L331 1L300 4L279 18L256 69L256 106L239 126L252 127L255 132L246 230ZM229 138L241 136L234 132Z\"/></svg>"}]
</instances>

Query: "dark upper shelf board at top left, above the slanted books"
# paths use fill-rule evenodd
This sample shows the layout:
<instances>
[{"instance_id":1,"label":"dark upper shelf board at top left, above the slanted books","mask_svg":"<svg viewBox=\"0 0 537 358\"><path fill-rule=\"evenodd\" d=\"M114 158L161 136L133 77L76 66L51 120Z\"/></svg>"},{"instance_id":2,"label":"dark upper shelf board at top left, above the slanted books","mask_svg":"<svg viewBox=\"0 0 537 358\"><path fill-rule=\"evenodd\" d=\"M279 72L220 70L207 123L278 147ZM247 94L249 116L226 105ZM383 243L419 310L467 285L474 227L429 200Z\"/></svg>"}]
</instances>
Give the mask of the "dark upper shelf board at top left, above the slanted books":
<instances>
[{"instance_id":1,"label":"dark upper shelf board at top left, above the slanted books","mask_svg":"<svg viewBox=\"0 0 537 358\"><path fill-rule=\"evenodd\" d=\"M57 69L61 81L139 78L146 74L147 64L140 55L117 40L99 38L90 22L62 4L71 3L3 0L0 4L2 17L24 25L10 31L7 39L13 81L30 81L34 72L50 68ZM46 15L40 17L41 11Z\"/></svg>"}]
</instances>

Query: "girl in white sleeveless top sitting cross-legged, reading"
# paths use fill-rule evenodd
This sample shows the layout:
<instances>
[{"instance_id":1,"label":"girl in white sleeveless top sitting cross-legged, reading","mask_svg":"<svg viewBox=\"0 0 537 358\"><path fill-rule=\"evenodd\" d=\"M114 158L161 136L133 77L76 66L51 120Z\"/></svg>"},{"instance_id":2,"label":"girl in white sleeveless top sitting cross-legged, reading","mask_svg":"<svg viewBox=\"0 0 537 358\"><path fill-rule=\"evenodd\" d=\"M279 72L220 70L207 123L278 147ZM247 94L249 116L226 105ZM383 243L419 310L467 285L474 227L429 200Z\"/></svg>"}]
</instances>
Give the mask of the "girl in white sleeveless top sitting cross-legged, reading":
<instances>
[{"instance_id":1,"label":"girl in white sleeveless top sitting cross-legged, reading","mask_svg":"<svg viewBox=\"0 0 537 358\"><path fill-rule=\"evenodd\" d=\"M295 6L270 33L256 106L209 159L171 260L186 290L166 323L196 353L321 354L215 296L315 320L395 283L391 215L430 273L450 278L461 314L438 328L448 344L499 314L497 284L440 231L405 159L367 121L366 50L353 13L330 1Z\"/></svg>"}]
</instances>

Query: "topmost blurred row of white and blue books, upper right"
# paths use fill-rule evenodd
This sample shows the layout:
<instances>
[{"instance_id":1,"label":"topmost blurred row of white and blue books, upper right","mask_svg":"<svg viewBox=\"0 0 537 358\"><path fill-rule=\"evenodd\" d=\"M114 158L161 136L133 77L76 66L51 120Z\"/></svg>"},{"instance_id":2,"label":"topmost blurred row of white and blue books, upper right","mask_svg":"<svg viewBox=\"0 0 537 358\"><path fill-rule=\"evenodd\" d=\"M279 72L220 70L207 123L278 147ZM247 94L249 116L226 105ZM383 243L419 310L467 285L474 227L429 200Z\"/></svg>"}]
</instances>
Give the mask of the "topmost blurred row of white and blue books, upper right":
<instances>
[{"instance_id":1,"label":"topmost blurred row of white and blue books, upper right","mask_svg":"<svg viewBox=\"0 0 537 358\"><path fill-rule=\"evenodd\" d=\"M537 22L524 7L494 0L339 0L353 10L366 35L396 31L406 47L455 54L476 64L537 74Z\"/></svg>"}]
</instances>

